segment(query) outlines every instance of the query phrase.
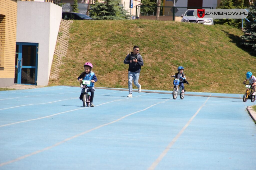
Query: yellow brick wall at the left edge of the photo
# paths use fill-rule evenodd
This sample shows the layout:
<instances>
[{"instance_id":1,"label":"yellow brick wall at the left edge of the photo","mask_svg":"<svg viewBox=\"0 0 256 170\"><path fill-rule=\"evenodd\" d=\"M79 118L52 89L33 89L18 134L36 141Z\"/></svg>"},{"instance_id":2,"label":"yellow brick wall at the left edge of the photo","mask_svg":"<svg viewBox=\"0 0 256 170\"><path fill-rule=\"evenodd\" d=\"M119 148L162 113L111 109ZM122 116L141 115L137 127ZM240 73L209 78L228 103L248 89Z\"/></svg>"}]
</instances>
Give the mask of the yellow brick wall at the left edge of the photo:
<instances>
[{"instance_id":1,"label":"yellow brick wall at the left edge of the photo","mask_svg":"<svg viewBox=\"0 0 256 170\"><path fill-rule=\"evenodd\" d=\"M17 0L0 0L0 78L14 78Z\"/></svg>"}]
</instances>

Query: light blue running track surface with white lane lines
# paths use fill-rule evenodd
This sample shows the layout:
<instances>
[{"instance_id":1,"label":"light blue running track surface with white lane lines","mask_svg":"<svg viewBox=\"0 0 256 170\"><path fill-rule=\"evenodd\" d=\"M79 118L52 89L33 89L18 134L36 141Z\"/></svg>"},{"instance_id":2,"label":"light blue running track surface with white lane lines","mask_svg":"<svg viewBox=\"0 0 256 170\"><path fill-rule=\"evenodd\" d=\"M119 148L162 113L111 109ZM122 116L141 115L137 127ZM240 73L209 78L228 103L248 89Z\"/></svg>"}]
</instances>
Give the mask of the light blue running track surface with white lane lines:
<instances>
[{"instance_id":1,"label":"light blue running track surface with white lane lines","mask_svg":"<svg viewBox=\"0 0 256 170\"><path fill-rule=\"evenodd\" d=\"M89 108L80 90L0 91L0 169L255 169L252 103L239 94L97 89Z\"/></svg>"}]
</instances>

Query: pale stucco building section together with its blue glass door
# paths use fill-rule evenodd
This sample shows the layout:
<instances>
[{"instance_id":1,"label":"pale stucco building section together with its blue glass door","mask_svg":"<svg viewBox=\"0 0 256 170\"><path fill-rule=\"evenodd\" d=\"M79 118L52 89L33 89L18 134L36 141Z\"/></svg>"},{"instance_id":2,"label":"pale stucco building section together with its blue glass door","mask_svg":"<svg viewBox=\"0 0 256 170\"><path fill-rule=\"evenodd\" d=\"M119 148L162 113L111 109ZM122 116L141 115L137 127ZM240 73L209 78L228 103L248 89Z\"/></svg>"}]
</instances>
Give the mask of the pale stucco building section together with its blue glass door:
<instances>
[{"instance_id":1,"label":"pale stucco building section together with its blue glass door","mask_svg":"<svg viewBox=\"0 0 256 170\"><path fill-rule=\"evenodd\" d=\"M38 1L18 1L17 6L14 83L48 85L62 9Z\"/></svg>"}]
</instances>

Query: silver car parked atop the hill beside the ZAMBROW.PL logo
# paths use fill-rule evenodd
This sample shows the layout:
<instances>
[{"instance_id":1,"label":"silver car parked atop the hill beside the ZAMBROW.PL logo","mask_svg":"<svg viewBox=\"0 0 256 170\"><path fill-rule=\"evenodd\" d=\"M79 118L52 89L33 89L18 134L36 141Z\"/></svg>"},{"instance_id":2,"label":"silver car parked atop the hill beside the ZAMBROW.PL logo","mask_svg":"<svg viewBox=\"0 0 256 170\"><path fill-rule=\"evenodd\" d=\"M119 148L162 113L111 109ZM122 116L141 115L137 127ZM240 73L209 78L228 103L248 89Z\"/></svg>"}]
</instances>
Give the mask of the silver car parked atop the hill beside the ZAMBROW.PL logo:
<instances>
[{"instance_id":1,"label":"silver car parked atop the hill beside the ZAMBROW.PL logo","mask_svg":"<svg viewBox=\"0 0 256 170\"><path fill-rule=\"evenodd\" d=\"M194 17L194 11L196 9L188 9L184 15L182 15L181 22L199 23L205 25L213 25L212 18L196 18Z\"/></svg>"}]
</instances>

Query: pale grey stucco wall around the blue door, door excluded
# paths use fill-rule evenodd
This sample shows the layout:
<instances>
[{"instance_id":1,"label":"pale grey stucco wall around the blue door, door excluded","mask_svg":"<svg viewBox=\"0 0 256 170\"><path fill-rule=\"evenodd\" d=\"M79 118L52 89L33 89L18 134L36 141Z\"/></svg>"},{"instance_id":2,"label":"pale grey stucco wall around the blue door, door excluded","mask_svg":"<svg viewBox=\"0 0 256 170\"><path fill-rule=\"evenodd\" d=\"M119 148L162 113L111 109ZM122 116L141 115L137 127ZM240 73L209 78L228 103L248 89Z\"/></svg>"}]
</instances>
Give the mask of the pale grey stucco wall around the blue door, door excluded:
<instances>
[{"instance_id":1,"label":"pale grey stucco wall around the blue door, door excluded","mask_svg":"<svg viewBox=\"0 0 256 170\"><path fill-rule=\"evenodd\" d=\"M16 42L38 43L37 85L48 85L61 11L49 2L18 1Z\"/></svg>"}]
</instances>

